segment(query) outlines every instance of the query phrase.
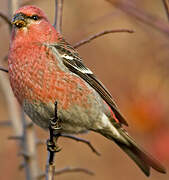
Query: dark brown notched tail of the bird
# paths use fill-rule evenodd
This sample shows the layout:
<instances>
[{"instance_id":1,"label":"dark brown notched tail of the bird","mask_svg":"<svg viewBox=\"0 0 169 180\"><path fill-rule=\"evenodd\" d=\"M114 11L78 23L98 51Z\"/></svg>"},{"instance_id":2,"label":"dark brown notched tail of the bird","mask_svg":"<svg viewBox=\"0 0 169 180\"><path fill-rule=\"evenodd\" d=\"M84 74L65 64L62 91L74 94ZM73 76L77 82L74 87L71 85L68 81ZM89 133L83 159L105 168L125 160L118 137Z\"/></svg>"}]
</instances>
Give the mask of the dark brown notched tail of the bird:
<instances>
[{"instance_id":1,"label":"dark brown notched tail of the bird","mask_svg":"<svg viewBox=\"0 0 169 180\"><path fill-rule=\"evenodd\" d=\"M142 150L125 130L119 128L118 131L128 144L115 139L113 136L110 136L110 134L108 136L106 134L103 135L113 140L124 152L126 152L146 176L150 175L151 167L160 173L166 173L165 168L151 155Z\"/></svg>"}]
</instances>

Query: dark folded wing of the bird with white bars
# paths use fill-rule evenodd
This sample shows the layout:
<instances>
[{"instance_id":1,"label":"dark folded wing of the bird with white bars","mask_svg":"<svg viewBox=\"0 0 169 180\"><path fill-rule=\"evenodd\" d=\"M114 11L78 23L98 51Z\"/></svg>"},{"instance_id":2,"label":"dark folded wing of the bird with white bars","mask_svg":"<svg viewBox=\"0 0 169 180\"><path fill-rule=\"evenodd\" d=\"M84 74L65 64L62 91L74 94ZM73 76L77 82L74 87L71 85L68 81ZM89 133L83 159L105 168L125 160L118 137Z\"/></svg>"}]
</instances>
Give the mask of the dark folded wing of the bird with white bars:
<instances>
[{"instance_id":1,"label":"dark folded wing of the bird with white bars","mask_svg":"<svg viewBox=\"0 0 169 180\"><path fill-rule=\"evenodd\" d=\"M59 43L50 44L50 47L55 48L55 52L59 53L62 57L63 64L73 73L79 75L84 79L98 94L104 99L104 101L111 107L113 113L115 114L118 121L126 126L128 123L119 112L117 105L112 99L109 91L104 87L102 82L100 82L93 72L88 69L82 62L82 59L79 57L77 51L70 46L64 39Z\"/></svg>"}]
</instances>

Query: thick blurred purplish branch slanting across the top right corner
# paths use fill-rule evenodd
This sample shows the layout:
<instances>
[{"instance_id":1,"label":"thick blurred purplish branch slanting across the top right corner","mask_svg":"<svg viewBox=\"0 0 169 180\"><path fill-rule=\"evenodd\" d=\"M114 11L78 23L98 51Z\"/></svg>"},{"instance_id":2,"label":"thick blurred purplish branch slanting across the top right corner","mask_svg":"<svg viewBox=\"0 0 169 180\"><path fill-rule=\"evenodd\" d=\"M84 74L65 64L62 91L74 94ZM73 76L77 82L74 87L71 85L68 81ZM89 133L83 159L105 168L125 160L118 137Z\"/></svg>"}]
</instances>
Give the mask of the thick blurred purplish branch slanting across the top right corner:
<instances>
[{"instance_id":1,"label":"thick blurred purplish branch slanting across the top right corner","mask_svg":"<svg viewBox=\"0 0 169 180\"><path fill-rule=\"evenodd\" d=\"M163 21L161 18L155 17L152 14L149 14L144 10L137 8L132 1L116 1L115 4L111 0L106 1L115 5L120 10L131 15L132 17L135 17L137 20L154 27L155 29L163 32L166 35L169 35L168 23Z\"/></svg>"}]
</instances>

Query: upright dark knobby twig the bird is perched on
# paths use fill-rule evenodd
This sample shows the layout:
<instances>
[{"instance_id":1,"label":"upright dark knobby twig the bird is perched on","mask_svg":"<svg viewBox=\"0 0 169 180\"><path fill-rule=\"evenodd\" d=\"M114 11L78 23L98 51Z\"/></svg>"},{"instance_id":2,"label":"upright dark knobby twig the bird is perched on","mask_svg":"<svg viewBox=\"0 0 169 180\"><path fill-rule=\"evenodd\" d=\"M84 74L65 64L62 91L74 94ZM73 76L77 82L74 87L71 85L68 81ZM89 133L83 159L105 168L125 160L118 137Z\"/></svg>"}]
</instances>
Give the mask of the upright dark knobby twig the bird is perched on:
<instances>
[{"instance_id":1,"label":"upright dark knobby twig the bird is perched on","mask_svg":"<svg viewBox=\"0 0 169 180\"><path fill-rule=\"evenodd\" d=\"M61 149L57 146L57 140L59 138L61 130L61 122L57 116L57 102L55 102L55 117L50 119L49 132L50 139L47 140L48 160L46 165L46 180L53 180L55 175L55 153Z\"/></svg>"}]
</instances>

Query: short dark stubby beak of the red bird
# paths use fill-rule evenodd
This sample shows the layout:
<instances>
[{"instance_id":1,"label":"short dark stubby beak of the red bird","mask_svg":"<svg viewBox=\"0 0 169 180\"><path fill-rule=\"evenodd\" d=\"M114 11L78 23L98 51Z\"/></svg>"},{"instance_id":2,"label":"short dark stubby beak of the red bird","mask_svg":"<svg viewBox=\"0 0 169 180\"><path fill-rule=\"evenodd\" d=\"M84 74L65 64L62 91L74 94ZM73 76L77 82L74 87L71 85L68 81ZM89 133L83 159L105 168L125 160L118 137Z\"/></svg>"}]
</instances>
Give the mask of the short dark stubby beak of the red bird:
<instances>
[{"instance_id":1,"label":"short dark stubby beak of the red bird","mask_svg":"<svg viewBox=\"0 0 169 180\"><path fill-rule=\"evenodd\" d=\"M15 25L18 28L25 27L27 25L24 14L18 13L15 14L11 24Z\"/></svg>"}]
</instances>

